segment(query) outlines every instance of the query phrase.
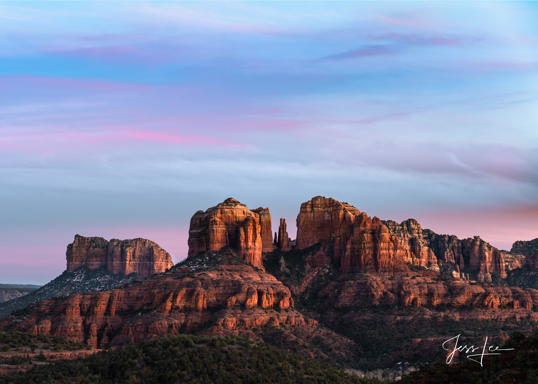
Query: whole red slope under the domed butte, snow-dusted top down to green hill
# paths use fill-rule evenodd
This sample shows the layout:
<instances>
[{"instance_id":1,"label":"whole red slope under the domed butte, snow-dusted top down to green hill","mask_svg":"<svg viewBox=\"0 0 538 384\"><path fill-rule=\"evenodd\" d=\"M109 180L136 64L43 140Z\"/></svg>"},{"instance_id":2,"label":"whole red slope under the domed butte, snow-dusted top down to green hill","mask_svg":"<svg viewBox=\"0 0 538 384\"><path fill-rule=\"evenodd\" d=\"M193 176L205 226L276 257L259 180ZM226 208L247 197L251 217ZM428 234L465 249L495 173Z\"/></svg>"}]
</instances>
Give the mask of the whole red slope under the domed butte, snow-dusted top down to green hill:
<instances>
[{"instance_id":1,"label":"whole red slope under the domed butte, snow-dusted top down to green hill","mask_svg":"<svg viewBox=\"0 0 538 384\"><path fill-rule=\"evenodd\" d=\"M287 287L225 247L128 286L40 301L2 319L0 329L50 333L99 348L180 333L238 335L353 364L355 343L293 306Z\"/></svg>"}]
</instances>

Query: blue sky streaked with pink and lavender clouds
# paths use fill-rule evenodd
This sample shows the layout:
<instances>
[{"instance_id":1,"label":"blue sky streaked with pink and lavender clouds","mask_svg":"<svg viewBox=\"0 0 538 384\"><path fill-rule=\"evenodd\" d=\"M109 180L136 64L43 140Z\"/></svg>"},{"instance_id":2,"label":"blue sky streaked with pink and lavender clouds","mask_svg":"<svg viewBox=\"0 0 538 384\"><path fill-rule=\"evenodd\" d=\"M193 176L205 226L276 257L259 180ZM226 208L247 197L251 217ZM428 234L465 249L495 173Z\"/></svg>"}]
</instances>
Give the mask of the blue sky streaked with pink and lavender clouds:
<instances>
[{"instance_id":1,"label":"blue sky streaked with pink and lavender clouds","mask_svg":"<svg viewBox=\"0 0 538 384\"><path fill-rule=\"evenodd\" d=\"M536 2L0 2L0 282L75 234L155 241L321 195L538 237Z\"/></svg>"}]
</instances>

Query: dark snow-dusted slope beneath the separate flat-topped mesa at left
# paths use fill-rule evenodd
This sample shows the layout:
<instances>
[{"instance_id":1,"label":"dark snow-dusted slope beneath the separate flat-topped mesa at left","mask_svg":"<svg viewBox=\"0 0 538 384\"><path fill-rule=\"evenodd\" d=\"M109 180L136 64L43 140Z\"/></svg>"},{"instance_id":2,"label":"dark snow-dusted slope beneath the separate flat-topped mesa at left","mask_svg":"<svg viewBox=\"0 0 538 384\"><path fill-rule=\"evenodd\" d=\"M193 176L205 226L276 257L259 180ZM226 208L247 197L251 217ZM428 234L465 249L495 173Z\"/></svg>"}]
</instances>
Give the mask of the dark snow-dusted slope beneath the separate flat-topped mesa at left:
<instances>
[{"instance_id":1,"label":"dark snow-dusted slope beneath the separate flat-topped mesa at left","mask_svg":"<svg viewBox=\"0 0 538 384\"><path fill-rule=\"evenodd\" d=\"M37 290L30 288L32 289L31 293L25 293L24 296L0 303L0 318L9 316L12 311L25 308L27 305L37 301L47 300L47 298L68 296L75 293L96 292L115 288L134 280L144 279L144 276L138 273L131 273L128 276L114 274L104 266L98 269L80 267L73 272L65 271L43 287L36 286L39 288Z\"/></svg>"}]
</instances>

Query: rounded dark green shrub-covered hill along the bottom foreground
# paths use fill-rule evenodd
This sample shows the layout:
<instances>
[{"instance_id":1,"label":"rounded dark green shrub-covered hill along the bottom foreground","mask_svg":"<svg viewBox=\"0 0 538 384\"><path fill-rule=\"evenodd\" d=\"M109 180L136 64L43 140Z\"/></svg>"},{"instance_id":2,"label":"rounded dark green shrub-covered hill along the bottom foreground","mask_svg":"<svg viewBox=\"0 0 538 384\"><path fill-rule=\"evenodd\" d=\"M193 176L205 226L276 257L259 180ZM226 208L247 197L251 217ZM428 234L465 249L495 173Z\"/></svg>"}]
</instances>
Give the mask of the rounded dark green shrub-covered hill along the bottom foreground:
<instances>
[{"instance_id":1,"label":"rounded dark green shrub-covered hill along the bottom foreground","mask_svg":"<svg viewBox=\"0 0 538 384\"><path fill-rule=\"evenodd\" d=\"M59 360L26 373L0 375L0 384L26 383L358 383L381 384L308 361L251 339L179 335L85 359Z\"/></svg>"}]
</instances>

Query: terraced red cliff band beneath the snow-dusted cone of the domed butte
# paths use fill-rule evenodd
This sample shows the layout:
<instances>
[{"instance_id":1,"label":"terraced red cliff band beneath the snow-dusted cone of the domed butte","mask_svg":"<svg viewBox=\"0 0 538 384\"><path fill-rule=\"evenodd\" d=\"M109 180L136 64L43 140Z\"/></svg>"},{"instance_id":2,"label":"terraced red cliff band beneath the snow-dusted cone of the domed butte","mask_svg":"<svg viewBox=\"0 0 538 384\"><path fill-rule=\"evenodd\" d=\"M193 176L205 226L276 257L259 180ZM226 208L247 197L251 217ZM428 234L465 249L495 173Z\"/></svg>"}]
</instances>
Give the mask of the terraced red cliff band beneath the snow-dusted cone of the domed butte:
<instances>
[{"instance_id":1,"label":"terraced red cliff band beneath the snow-dusted cone of the domed butte","mask_svg":"<svg viewBox=\"0 0 538 384\"><path fill-rule=\"evenodd\" d=\"M97 347L199 328L208 335L250 335L249 328L270 324L316 325L293 310L288 288L259 271L247 265L173 269L129 287L32 304L24 319L4 318L0 329L15 327Z\"/></svg>"}]
</instances>

